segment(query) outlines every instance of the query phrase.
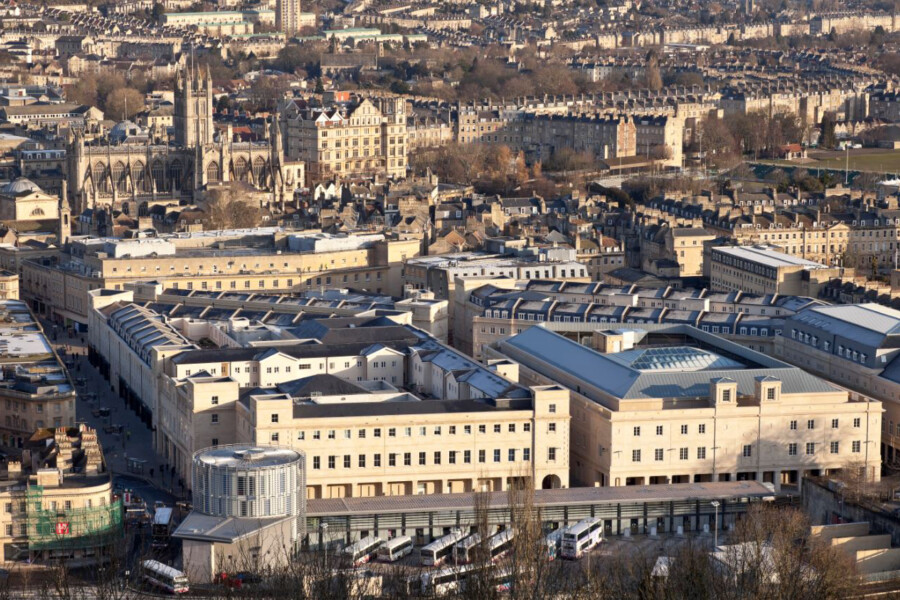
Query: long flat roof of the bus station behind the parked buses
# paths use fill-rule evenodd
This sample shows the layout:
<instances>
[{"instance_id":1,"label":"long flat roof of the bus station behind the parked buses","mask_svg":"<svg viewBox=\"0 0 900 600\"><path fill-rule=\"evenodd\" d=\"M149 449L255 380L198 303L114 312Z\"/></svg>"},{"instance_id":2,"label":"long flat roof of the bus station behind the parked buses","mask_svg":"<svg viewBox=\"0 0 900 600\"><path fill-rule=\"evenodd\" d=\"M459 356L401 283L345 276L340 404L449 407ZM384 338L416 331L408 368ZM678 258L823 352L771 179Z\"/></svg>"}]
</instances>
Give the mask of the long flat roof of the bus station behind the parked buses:
<instances>
[{"instance_id":1,"label":"long flat roof of the bus station behind the parked buses","mask_svg":"<svg viewBox=\"0 0 900 600\"><path fill-rule=\"evenodd\" d=\"M677 502L729 498L764 498L771 489L758 481L724 481L710 483L674 483L668 485L576 487L535 490L535 506L573 506L635 502ZM431 494L409 496L374 496L368 498L318 498L306 501L307 517L333 517L362 514L410 513L440 510L471 510L476 494ZM490 507L506 507L507 492L487 494Z\"/></svg>"}]
</instances>

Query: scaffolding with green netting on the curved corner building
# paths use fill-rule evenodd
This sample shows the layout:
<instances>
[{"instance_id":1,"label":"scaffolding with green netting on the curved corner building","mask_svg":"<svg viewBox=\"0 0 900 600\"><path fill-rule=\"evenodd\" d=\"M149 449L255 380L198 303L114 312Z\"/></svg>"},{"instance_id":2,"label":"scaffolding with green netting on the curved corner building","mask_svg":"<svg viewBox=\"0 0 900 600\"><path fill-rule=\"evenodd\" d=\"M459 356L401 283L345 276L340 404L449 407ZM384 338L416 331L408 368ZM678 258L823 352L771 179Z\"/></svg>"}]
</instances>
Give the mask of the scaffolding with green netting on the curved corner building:
<instances>
[{"instance_id":1,"label":"scaffolding with green netting on the curved corner building","mask_svg":"<svg viewBox=\"0 0 900 600\"><path fill-rule=\"evenodd\" d=\"M44 488L28 487L26 519L29 551L100 549L122 540L122 501L91 508L44 506Z\"/></svg>"}]
</instances>

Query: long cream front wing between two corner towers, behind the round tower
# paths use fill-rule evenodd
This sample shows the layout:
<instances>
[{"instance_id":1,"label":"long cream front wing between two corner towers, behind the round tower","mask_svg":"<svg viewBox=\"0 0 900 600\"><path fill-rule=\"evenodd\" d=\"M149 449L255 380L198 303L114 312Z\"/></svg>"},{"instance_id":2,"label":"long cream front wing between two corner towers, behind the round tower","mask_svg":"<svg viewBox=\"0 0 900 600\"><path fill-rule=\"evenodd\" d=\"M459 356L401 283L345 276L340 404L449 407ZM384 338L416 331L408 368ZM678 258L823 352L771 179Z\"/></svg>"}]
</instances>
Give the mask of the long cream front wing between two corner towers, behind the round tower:
<instances>
[{"instance_id":1,"label":"long cream front wing between two corner towers, behind the round tower","mask_svg":"<svg viewBox=\"0 0 900 600\"><path fill-rule=\"evenodd\" d=\"M234 380L189 381L199 406L208 393L220 403L239 394ZM234 427L238 443L302 450L309 498L500 491L527 480L567 486L566 392L514 386L510 396L423 400L313 375L241 398Z\"/></svg>"}]
</instances>

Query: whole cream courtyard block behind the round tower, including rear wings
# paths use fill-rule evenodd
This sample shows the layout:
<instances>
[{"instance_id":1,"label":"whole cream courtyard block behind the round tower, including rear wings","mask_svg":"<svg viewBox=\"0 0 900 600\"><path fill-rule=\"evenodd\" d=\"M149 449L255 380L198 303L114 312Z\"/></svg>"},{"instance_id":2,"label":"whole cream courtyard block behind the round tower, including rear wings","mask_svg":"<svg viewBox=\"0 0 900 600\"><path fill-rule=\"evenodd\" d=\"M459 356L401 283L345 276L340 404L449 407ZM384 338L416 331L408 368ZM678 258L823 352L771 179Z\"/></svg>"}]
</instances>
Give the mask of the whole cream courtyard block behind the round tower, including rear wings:
<instances>
[{"instance_id":1,"label":"whole cream courtyard block behind the round tower, including rear wings","mask_svg":"<svg viewBox=\"0 0 900 600\"><path fill-rule=\"evenodd\" d=\"M407 326L334 318L303 333L319 343L166 361L163 460L187 479L202 448L292 447L307 455L310 497L501 490L525 475L568 486L566 394L515 385L503 365L487 369Z\"/></svg>"}]
</instances>

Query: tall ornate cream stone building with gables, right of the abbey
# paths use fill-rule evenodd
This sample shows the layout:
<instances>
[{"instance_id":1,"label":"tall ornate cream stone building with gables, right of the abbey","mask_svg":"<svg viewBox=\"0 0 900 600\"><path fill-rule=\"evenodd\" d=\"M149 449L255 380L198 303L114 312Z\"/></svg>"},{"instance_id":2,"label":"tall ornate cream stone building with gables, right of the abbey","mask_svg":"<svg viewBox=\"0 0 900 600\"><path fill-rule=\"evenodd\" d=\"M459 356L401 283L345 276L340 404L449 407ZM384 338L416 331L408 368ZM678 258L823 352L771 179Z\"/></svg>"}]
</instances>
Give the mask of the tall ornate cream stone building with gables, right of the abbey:
<instances>
[{"instance_id":1,"label":"tall ornate cream stone building with gables, right of the abbey","mask_svg":"<svg viewBox=\"0 0 900 600\"><path fill-rule=\"evenodd\" d=\"M352 176L406 177L404 98L356 99L331 108L282 109L286 153L306 163L308 184Z\"/></svg>"}]
</instances>

